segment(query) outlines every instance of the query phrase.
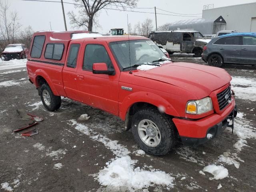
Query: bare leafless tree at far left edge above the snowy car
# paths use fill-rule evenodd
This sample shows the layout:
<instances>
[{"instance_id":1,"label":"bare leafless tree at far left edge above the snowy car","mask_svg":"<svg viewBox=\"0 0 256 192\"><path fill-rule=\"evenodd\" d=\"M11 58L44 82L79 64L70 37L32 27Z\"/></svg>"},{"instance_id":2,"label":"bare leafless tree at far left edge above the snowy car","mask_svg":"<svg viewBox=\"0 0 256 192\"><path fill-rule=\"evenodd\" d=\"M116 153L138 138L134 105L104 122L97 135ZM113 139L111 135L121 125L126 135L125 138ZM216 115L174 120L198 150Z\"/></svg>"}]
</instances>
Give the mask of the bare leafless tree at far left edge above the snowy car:
<instances>
[{"instance_id":1,"label":"bare leafless tree at far left edge above the snowy car","mask_svg":"<svg viewBox=\"0 0 256 192\"><path fill-rule=\"evenodd\" d=\"M8 1L0 1L0 38L5 42L14 42L15 34L21 27L18 23L18 13L16 11L8 12L10 4Z\"/></svg>"}]
</instances>

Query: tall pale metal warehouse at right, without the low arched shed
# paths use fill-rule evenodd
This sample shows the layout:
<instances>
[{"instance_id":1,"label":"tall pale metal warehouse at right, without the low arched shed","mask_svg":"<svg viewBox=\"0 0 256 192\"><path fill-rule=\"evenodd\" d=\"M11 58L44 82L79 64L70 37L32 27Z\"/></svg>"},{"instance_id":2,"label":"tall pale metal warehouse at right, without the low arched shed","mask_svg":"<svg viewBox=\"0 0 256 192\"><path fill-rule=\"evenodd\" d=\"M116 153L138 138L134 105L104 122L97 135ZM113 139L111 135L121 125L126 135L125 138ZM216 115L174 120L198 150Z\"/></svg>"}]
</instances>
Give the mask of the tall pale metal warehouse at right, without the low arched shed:
<instances>
[{"instance_id":1,"label":"tall pale metal warehouse at right, without the low arched shed","mask_svg":"<svg viewBox=\"0 0 256 192\"><path fill-rule=\"evenodd\" d=\"M226 30L256 32L256 2L220 8L204 8L202 18L213 20L222 16L226 21Z\"/></svg>"}]
</instances>

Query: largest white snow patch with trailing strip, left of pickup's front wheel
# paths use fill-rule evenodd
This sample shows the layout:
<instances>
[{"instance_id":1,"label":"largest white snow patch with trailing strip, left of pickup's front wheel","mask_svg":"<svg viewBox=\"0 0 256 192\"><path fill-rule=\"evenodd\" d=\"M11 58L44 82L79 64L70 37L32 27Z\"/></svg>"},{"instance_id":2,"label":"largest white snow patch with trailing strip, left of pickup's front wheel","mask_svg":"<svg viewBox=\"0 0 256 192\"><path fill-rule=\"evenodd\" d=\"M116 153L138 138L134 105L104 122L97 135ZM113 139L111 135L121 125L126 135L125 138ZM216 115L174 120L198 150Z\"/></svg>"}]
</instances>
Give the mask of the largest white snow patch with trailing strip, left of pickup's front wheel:
<instances>
[{"instance_id":1,"label":"largest white snow patch with trailing strip, left of pickup's front wheel","mask_svg":"<svg viewBox=\"0 0 256 192\"><path fill-rule=\"evenodd\" d=\"M93 129L88 128L84 124L76 122L76 120L69 120L71 126L75 129L86 134L92 140L101 142L112 151L116 158L106 162L107 167L100 170L98 174L93 176L98 179L98 182L103 186L111 186L114 188L128 188L129 191L148 188L149 186L162 185L168 188L173 186L174 178L166 172L155 170L144 170L144 168L135 168L136 160L132 160L128 154L131 152L123 146L118 144L118 141L113 141L98 134ZM143 152L139 152L143 154ZM148 167L148 166L146 166ZM149 167L148 167L149 168Z\"/></svg>"}]
</instances>

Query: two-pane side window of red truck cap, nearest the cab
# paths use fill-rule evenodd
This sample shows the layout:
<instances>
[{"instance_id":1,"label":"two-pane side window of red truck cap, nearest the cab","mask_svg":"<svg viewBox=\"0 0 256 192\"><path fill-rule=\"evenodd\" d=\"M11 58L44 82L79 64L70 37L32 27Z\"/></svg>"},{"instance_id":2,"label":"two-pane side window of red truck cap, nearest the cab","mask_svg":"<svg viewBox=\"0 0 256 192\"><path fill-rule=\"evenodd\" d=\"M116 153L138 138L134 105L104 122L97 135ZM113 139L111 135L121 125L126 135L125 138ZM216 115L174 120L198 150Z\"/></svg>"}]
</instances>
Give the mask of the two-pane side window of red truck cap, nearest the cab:
<instances>
[{"instance_id":1,"label":"two-pane side window of red truck cap, nearest the cab","mask_svg":"<svg viewBox=\"0 0 256 192\"><path fill-rule=\"evenodd\" d=\"M64 50L63 44L47 44L44 52L46 59L61 60Z\"/></svg>"}]
</instances>

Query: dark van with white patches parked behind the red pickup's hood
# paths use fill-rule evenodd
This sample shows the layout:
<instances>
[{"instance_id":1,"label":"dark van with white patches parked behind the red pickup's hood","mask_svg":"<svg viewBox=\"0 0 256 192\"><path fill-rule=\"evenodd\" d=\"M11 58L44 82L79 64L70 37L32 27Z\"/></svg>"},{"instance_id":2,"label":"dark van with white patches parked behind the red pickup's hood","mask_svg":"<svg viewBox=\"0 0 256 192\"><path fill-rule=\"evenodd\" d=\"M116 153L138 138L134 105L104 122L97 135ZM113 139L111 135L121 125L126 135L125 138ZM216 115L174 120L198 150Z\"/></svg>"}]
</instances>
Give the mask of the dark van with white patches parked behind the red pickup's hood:
<instances>
[{"instance_id":1,"label":"dark van with white patches parked behind the red pickup's hood","mask_svg":"<svg viewBox=\"0 0 256 192\"><path fill-rule=\"evenodd\" d=\"M174 52L193 53L201 56L204 46L210 42L198 31L173 30L151 32L148 36L157 46L164 48L169 54Z\"/></svg>"}]
</instances>

